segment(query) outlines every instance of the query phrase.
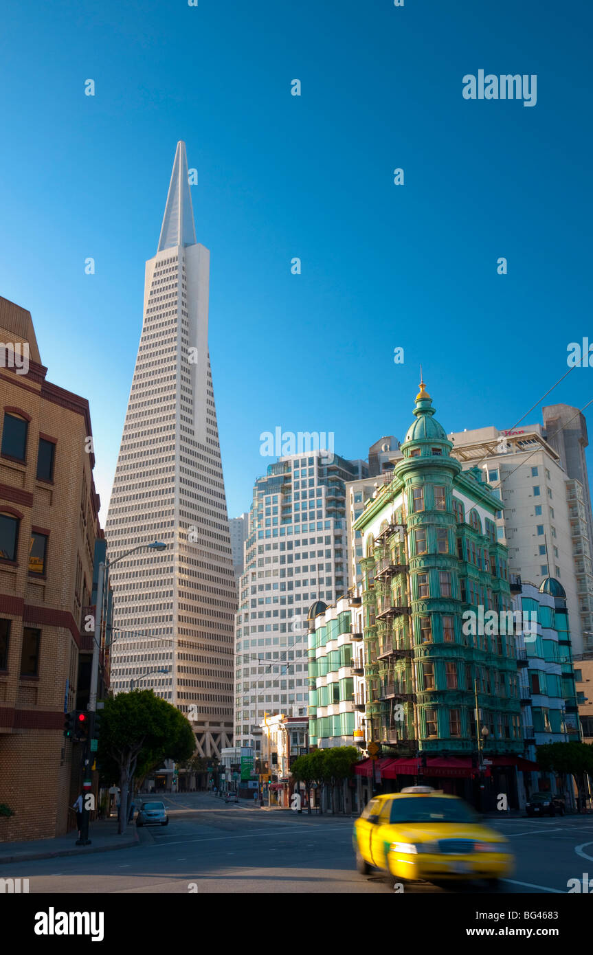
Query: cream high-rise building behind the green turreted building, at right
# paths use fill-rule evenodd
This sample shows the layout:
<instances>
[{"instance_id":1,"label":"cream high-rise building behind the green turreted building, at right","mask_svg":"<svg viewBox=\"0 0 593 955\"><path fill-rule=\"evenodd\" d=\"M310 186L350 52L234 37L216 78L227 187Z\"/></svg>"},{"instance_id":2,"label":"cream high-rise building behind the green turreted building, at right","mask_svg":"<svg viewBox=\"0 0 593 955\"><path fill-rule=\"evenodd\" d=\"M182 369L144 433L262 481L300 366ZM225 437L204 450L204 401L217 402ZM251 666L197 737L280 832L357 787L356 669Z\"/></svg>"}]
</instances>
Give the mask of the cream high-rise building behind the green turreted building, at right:
<instances>
[{"instance_id":1,"label":"cream high-rise building behind the green turreted building, at right","mask_svg":"<svg viewBox=\"0 0 593 955\"><path fill-rule=\"evenodd\" d=\"M508 546L509 569L537 586L560 581L575 653L591 646L593 570L588 538L588 488L571 478L539 424L517 431L479 428L450 434L452 455L479 467L501 502L498 540ZM586 472L584 474L586 477Z\"/></svg>"}]
</instances>

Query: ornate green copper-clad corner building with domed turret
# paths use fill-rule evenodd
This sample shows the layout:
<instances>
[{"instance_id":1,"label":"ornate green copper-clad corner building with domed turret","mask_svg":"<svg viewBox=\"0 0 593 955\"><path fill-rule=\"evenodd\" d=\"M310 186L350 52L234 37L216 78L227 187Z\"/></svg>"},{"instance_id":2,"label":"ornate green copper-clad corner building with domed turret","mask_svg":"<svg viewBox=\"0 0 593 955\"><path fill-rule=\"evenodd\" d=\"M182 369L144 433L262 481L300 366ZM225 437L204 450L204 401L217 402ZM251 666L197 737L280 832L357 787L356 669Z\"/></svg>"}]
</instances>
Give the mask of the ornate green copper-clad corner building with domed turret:
<instances>
[{"instance_id":1,"label":"ornate green copper-clad corner building with domed turret","mask_svg":"<svg viewBox=\"0 0 593 955\"><path fill-rule=\"evenodd\" d=\"M392 756L382 777L392 789L414 777L469 798L503 786L512 804L523 752L515 636L464 633L462 617L511 609L500 500L479 468L451 456L424 382L413 415L391 483L353 525L364 545L366 738Z\"/></svg>"}]
</instances>

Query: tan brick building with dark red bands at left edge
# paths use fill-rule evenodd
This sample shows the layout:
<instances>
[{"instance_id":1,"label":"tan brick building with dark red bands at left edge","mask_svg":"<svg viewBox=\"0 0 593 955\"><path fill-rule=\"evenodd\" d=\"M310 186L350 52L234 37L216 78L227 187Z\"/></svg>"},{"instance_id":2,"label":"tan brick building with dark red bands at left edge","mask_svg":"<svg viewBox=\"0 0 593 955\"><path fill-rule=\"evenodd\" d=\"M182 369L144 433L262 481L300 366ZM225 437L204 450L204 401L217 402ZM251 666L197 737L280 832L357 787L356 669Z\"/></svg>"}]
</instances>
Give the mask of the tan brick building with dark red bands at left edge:
<instances>
[{"instance_id":1,"label":"tan brick building with dark red bands at left edge","mask_svg":"<svg viewBox=\"0 0 593 955\"><path fill-rule=\"evenodd\" d=\"M4 298L0 340L0 805L14 814L0 813L6 841L73 828L81 746L64 739L64 712L81 706L79 674L88 678L93 635L81 624L102 532L88 402L46 381L30 312ZM13 356L27 350L17 367Z\"/></svg>"}]
</instances>

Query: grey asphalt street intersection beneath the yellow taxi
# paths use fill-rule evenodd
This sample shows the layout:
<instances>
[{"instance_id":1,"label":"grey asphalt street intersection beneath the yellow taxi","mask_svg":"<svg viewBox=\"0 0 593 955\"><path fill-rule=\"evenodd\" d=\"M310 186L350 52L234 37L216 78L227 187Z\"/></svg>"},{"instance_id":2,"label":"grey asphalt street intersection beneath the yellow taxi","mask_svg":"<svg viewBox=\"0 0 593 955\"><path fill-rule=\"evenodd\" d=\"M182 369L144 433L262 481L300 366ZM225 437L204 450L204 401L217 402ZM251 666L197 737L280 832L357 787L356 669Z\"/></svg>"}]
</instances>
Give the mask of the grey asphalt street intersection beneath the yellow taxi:
<instances>
[{"instance_id":1,"label":"grey asphalt street intersection beneath the yellow taxi","mask_svg":"<svg viewBox=\"0 0 593 955\"><path fill-rule=\"evenodd\" d=\"M392 894L387 878L356 873L349 817L266 812L209 794L160 798L169 825L141 829L135 848L15 863L2 875L29 879L30 893ZM566 893L569 880L589 871L593 879L593 817L501 817L492 824L510 838L517 859L503 892ZM405 885L406 894L477 890Z\"/></svg>"}]
</instances>

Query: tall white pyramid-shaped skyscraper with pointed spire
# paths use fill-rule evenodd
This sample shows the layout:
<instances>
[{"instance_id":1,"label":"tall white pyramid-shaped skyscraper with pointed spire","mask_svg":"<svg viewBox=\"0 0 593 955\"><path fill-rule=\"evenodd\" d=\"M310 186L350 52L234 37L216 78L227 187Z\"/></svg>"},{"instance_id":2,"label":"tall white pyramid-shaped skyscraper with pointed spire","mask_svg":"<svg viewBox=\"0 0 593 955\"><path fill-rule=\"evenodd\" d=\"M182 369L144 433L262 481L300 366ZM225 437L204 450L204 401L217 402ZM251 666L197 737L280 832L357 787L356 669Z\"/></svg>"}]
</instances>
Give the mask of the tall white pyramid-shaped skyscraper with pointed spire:
<instances>
[{"instance_id":1,"label":"tall white pyramid-shaped skyscraper with pointed spire","mask_svg":"<svg viewBox=\"0 0 593 955\"><path fill-rule=\"evenodd\" d=\"M159 248L146 263L138 357L105 526L114 590L111 686L152 687L190 719L198 752L220 756L232 745L237 591L208 354L209 261L196 242L185 143L178 142ZM145 546L156 540L166 544L161 553Z\"/></svg>"}]
</instances>

